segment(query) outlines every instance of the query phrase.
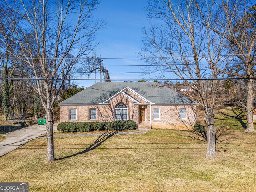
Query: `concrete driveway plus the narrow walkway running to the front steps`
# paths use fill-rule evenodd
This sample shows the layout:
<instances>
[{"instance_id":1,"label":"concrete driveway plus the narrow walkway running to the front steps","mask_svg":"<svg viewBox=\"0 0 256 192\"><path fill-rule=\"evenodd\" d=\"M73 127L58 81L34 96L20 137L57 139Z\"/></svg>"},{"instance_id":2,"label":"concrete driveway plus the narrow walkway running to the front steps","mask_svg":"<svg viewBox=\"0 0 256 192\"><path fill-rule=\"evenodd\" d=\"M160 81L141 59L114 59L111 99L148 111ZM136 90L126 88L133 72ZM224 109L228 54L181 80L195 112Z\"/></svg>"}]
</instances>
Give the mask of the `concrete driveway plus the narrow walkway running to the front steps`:
<instances>
[{"instance_id":1,"label":"concrete driveway plus the narrow walkway running to the front steps","mask_svg":"<svg viewBox=\"0 0 256 192\"><path fill-rule=\"evenodd\" d=\"M53 131L56 132L57 125L54 124ZM54 135L54 137L80 137L80 136L100 136L100 135L127 135L127 134L142 134L146 133L148 130L138 130L133 132L106 132L106 133L93 133L93 134L70 134L70 135ZM46 134L44 125L32 125L29 127L22 128L20 130L12 131L10 133L4 134L5 139L0 142L0 156L11 152L12 150L24 145L32 139L44 138Z\"/></svg>"}]
</instances>

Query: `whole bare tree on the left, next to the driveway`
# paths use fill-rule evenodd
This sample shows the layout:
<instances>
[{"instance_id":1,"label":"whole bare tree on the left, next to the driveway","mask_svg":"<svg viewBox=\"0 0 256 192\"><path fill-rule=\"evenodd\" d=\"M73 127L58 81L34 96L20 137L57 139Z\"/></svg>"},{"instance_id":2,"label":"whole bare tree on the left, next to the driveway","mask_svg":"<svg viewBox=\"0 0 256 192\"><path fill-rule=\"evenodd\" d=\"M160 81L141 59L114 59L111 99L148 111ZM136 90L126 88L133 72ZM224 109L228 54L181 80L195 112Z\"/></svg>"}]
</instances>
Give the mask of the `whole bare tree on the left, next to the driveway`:
<instances>
[{"instance_id":1,"label":"whole bare tree on the left, next to the driveway","mask_svg":"<svg viewBox=\"0 0 256 192\"><path fill-rule=\"evenodd\" d=\"M64 78L76 62L93 50L95 33L104 21L94 21L92 12L98 0L28 0L6 1L22 17L13 25L20 52L33 71L35 91L46 111L47 161L53 162L53 109ZM74 58L68 58L72 54ZM66 60L69 62L64 62Z\"/></svg>"}]
</instances>

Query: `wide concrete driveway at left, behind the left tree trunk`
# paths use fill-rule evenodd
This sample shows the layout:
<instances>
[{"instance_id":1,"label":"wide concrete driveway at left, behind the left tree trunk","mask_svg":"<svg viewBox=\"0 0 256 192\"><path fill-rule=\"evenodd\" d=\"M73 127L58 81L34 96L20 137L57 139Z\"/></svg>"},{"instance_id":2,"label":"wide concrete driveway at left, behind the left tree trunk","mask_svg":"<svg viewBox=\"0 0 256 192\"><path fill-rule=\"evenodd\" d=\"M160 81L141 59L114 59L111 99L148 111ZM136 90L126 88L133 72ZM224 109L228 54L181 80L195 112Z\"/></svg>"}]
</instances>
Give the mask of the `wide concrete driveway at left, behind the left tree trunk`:
<instances>
[{"instance_id":1,"label":"wide concrete driveway at left, behind the left tree trunk","mask_svg":"<svg viewBox=\"0 0 256 192\"><path fill-rule=\"evenodd\" d=\"M53 126L54 132L57 131L57 125L55 123ZM32 139L44 137L42 134L46 134L45 125L32 125L4 134L5 139L0 142L0 156L11 152Z\"/></svg>"}]
</instances>

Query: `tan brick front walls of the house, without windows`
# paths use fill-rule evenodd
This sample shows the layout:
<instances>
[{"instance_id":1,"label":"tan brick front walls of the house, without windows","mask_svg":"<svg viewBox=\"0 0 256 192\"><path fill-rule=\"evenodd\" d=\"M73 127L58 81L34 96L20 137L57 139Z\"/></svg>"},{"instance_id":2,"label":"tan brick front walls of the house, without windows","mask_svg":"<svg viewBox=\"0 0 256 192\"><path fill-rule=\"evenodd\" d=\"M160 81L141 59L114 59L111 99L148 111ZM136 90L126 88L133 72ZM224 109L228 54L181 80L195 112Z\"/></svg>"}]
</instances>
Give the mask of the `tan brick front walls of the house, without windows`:
<instances>
[{"instance_id":1,"label":"tan brick front walls of the house, without windows","mask_svg":"<svg viewBox=\"0 0 256 192\"><path fill-rule=\"evenodd\" d=\"M146 104L139 96L125 91L130 96L138 100L141 104L134 104L132 100L123 94L118 94L108 102L108 105L77 105L77 106L60 106L60 122L70 121L70 109L77 110L77 122L109 122L114 121L114 108L119 102L125 103L128 108L128 120L134 120L139 123L139 108L145 108L145 121L150 124L150 104ZM97 119L89 119L89 109L96 108ZM153 109L160 109L160 119L153 119ZM179 117L180 108L186 108L187 119L181 120ZM196 107L193 105L152 105L151 106L151 123L152 128L191 128L196 124Z\"/></svg>"}]
</instances>

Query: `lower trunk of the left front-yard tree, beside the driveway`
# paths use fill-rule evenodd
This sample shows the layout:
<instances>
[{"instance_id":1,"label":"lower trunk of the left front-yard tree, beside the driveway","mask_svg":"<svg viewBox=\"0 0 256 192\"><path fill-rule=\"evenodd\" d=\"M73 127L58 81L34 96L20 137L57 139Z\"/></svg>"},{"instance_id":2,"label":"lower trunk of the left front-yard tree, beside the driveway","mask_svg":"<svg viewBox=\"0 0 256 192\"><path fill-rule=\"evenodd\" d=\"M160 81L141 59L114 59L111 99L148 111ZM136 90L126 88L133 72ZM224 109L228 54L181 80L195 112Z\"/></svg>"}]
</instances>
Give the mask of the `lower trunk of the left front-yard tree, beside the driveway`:
<instances>
[{"instance_id":1,"label":"lower trunk of the left front-yard tree, beside the driveway","mask_svg":"<svg viewBox=\"0 0 256 192\"><path fill-rule=\"evenodd\" d=\"M53 146L53 110L48 107L46 114L46 139L47 139L47 158L48 162L54 162L54 146Z\"/></svg>"}]
</instances>

